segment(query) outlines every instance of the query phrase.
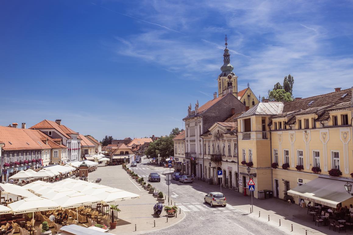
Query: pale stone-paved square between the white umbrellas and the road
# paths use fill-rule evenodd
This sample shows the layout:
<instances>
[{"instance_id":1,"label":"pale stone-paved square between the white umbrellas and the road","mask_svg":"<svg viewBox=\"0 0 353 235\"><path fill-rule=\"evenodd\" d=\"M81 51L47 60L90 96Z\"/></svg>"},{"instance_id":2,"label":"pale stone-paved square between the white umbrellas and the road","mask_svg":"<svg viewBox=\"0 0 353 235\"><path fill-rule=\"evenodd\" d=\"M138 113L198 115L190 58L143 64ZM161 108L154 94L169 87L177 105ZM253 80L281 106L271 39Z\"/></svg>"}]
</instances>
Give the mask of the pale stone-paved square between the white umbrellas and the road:
<instances>
[{"instance_id":1,"label":"pale stone-paved square between the white umbrellas and the road","mask_svg":"<svg viewBox=\"0 0 353 235\"><path fill-rule=\"evenodd\" d=\"M169 170L168 170L169 171ZM120 219L116 224L116 229L112 229L109 233L112 234L140 234L154 230L167 228L180 222L185 213L177 215L177 218L166 217L166 212L161 213L161 217L156 217L153 213L153 206L158 202L152 194L144 190L130 175L122 169L121 165L99 167L96 171L89 173L89 181L101 178L101 185L124 189L128 192L141 195L138 199L120 201L119 209L121 212L118 214ZM145 181L148 179L144 179ZM168 203L164 203L168 205ZM154 221L156 227L154 227ZM135 231L136 224L136 231ZM109 227L109 225L108 225Z\"/></svg>"}]
</instances>

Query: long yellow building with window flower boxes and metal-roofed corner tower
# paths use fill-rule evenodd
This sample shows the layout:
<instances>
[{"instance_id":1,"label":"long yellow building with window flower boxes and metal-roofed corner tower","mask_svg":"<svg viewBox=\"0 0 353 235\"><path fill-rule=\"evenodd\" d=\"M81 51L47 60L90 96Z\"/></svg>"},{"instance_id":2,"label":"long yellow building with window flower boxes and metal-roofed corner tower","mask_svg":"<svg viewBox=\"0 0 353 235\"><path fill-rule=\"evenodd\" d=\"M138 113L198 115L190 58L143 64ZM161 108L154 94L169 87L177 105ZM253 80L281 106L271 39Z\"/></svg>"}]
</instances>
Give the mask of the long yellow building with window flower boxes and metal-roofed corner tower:
<instances>
[{"instance_id":1,"label":"long yellow building with window flower boxes and metal-roofed corner tower","mask_svg":"<svg viewBox=\"0 0 353 235\"><path fill-rule=\"evenodd\" d=\"M334 207L319 191L302 192L299 187L322 181L343 191L336 192L336 202L352 203L344 188L346 182L353 184L352 110L352 89L336 89L288 103L259 103L239 116L240 191L247 191L250 166L255 197L268 189L281 199L292 195L296 204L303 200Z\"/></svg>"}]
</instances>

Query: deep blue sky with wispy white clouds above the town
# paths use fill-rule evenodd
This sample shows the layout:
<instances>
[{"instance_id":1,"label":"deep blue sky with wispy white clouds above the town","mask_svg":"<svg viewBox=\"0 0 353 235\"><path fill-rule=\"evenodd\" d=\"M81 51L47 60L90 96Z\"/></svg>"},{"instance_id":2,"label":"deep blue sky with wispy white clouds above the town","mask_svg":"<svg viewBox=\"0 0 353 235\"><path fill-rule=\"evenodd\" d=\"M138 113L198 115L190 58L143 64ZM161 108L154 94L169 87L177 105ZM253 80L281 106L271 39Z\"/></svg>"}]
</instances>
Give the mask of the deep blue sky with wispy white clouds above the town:
<instances>
[{"instance_id":1,"label":"deep blue sky with wispy white clouds above the town","mask_svg":"<svg viewBox=\"0 0 353 235\"><path fill-rule=\"evenodd\" d=\"M168 134L217 91L224 36L238 89L350 88L352 1L2 1L0 125L43 119L101 140Z\"/></svg>"}]
</instances>

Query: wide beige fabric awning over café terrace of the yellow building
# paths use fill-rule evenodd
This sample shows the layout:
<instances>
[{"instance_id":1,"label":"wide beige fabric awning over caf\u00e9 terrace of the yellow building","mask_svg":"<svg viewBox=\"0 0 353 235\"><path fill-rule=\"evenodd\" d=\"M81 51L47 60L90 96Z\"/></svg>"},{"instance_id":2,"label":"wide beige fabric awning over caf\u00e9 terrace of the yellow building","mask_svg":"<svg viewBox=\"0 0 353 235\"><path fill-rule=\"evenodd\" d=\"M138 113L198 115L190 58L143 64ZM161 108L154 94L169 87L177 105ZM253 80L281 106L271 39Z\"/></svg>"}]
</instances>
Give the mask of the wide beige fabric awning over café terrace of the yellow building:
<instances>
[{"instance_id":1,"label":"wide beige fabric awning over caf\u00e9 terrace of the yellow building","mask_svg":"<svg viewBox=\"0 0 353 235\"><path fill-rule=\"evenodd\" d=\"M288 195L336 208L336 205L352 199L346 192L346 181L318 177L305 185L288 190Z\"/></svg>"}]
</instances>

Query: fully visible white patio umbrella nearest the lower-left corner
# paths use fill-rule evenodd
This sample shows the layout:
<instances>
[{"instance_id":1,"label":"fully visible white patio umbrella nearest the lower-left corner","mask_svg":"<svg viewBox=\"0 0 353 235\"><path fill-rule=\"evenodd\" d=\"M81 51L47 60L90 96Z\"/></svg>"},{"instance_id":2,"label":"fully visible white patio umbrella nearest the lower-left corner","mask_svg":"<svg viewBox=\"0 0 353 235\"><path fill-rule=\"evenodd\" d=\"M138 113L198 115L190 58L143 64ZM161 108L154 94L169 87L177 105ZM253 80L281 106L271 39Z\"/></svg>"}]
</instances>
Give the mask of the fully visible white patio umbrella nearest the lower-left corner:
<instances>
[{"instance_id":1,"label":"fully visible white patio umbrella nearest the lower-left corner","mask_svg":"<svg viewBox=\"0 0 353 235\"><path fill-rule=\"evenodd\" d=\"M15 201L8 204L8 207L12 209L12 213L14 215L32 212L33 217L34 212L55 210L60 208L60 206L54 201L37 196ZM34 221L32 225L34 226Z\"/></svg>"}]
</instances>

